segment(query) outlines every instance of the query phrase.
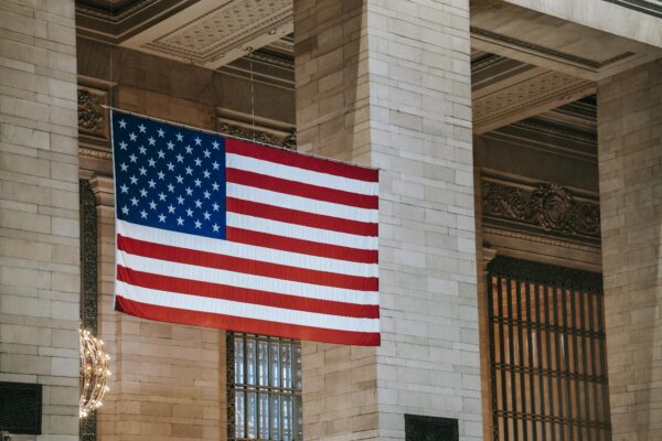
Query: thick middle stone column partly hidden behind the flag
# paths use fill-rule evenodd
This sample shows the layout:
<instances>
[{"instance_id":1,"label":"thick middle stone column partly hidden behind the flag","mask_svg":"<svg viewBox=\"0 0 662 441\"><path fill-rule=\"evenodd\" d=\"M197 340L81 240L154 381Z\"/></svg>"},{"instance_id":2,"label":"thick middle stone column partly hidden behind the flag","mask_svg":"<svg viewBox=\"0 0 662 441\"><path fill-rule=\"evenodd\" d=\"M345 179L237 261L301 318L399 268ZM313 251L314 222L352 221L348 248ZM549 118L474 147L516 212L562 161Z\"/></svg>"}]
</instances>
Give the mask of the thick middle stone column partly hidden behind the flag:
<instances>
[{"instance_id":1,"label":"thick middle stone column partly hidden behind the flag","mask_svg":"<svg viewBox=\"0 0 662 441\"><path fill-rule=\"evenodd\" d=\"M305 438L482 438L469 1L295 1L298 146L380 173L382 346L303 344Z\"/></svg>"}]
</instances>

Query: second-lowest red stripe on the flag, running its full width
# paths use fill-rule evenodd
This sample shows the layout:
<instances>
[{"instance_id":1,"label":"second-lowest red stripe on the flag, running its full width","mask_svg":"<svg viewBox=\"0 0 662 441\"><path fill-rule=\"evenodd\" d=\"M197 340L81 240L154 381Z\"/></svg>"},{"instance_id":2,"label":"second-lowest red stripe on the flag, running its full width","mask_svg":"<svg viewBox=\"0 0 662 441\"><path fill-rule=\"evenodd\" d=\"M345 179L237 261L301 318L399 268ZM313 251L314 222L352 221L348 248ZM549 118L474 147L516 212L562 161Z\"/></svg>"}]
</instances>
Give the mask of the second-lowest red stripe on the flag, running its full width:
<instances>
[{"instance_id":1,"label":"second-lowest red stripe on the flag, running its full width","mask_svg":"<svg viewBox=\"0 0 662 441\"><path fill-rule=\"evenodd\" d=\"M286 295L246 288L231 287L203 282L200 280L181 279L177 277L153 275L136 271L121 265L117 266L117 280L135 287L149 288L160 291L179 292L181 294L200 295L213 299L229 300L260 304L264 306L282 308L319 314L343 315L359 319L378 319L380 306L375 304L356 304L334 302L329 300L310 299L298 295Z\"/></svg>"}]
</instances>

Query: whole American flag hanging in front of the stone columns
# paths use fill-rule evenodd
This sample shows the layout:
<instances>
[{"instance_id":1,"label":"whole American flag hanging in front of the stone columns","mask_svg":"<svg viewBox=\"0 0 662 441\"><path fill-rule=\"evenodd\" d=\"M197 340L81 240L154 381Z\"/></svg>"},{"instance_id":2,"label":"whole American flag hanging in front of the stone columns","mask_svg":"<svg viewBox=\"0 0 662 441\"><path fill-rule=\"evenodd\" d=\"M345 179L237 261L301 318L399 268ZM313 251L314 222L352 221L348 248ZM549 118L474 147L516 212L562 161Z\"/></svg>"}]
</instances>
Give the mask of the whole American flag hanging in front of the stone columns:
<instances>
[{"instance_id":1,"label":"whole American flag hanging in front of the stone columns","mask_svg":"<svg viewBox=\"0 0 662 441\"><path fill-rule=\"evenodd\" d=\"M380 344L376 170L111 118L118 311Z\"/></svg>"}]
</instances>

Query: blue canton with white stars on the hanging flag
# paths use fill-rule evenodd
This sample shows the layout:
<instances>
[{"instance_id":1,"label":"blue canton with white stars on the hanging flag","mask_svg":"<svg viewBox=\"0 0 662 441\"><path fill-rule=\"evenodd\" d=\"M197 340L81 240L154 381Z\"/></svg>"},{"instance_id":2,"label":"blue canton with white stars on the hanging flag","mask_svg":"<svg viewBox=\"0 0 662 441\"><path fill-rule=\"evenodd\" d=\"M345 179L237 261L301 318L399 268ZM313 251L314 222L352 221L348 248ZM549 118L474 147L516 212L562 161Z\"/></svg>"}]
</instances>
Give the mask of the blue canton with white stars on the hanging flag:
<instances>
[{"instance_id":1,"label":"blue canton with white stars on the hanging flag","mask_svg":"<svg viewBox=\"0 0 662 441\"><path fill-rule=\"evenodd\" d=\"M115 112L117 217L134 224L225 238L225 140Z\"/></svg>"}]
</instances>

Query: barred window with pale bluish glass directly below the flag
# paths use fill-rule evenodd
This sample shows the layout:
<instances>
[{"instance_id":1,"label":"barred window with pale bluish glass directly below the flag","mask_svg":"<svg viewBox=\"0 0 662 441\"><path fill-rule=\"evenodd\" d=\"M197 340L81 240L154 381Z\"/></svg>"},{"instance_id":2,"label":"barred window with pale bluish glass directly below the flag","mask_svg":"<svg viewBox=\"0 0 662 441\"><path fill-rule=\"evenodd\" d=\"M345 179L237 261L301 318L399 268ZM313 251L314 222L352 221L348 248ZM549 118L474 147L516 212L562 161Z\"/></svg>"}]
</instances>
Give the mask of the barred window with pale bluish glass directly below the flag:
<instances>
[{"instance_id":1,"label":"barred window with pale bluish glass directly below the flag","mask_svg":"<svg viewBox=\"0 0 662 441\"><path fill-rule=\"evenodd\" d=\"M227 333L229 440L303 439L301 344Z\"/></svg>"}]
</instances>

